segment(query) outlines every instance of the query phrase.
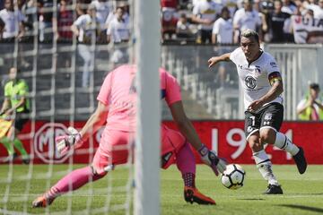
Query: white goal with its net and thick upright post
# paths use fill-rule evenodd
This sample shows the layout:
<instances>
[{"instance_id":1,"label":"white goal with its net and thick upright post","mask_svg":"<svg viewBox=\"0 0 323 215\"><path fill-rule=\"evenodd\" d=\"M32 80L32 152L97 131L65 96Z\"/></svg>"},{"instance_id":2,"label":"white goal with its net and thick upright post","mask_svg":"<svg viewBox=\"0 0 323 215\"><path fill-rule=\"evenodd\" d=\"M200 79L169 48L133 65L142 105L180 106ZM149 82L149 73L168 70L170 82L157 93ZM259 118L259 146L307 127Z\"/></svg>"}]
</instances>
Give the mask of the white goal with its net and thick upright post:
<instances>
[{"instance_id":1,"label":"white goal with its net and thick upright post","mask_svg":"<svg viewBox=\"0 0 323 215\"><path fill-rule=\"evenodd\" d=\"M109 32L119 7L122 19L128 22L128 39L118 40L120 35ZM0 39L1 101L10 68L16 67L29 87L31 112L23 115L30 120L22 131L8 138L11 152L2 139L9 118L0 119L0 213L158 214L159 2L30 0L22 4L13 0L13 14L15 37L1 34ZM86 14L90 18L75 24ZM24 23L22 37L17 36L20 22ZM72 25L77 25L78 34L71 30ZM107 73L119 64L134 64L134 59L138 65L138 133L135 143L118 149L129 151L127 163L95 183L62 194L47 208L31 208L31 202L62 177L92 163L103 128L73 155L60 156L55 137L66 133L68 126L80 130L97 107L96 97ZM13 144L14 136L22 141L29 157Z\"/></svg>"}]
</instances>

